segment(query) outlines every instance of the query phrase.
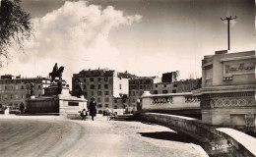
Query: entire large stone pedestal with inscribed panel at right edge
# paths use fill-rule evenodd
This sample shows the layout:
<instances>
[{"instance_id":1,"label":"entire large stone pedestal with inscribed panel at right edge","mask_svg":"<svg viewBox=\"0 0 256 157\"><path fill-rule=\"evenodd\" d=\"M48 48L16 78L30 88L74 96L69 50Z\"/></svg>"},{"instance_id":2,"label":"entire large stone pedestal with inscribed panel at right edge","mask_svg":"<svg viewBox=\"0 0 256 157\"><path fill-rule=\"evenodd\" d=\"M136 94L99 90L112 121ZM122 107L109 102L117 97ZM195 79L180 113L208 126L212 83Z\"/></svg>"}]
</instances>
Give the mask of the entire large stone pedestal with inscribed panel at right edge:
<instances>
[{"instance_id":1,"label":"entire large stone pedestal with inscribed panel at right edge","mask_svg":"<svg viewBox=\"0 0 256 157\"><path fill-rule=\"evenodd\" d=\"M202 121L240 130L256 126L255 52L205 56L202 88L193 94L201 100Z\"/></svg>"}]
</instances>

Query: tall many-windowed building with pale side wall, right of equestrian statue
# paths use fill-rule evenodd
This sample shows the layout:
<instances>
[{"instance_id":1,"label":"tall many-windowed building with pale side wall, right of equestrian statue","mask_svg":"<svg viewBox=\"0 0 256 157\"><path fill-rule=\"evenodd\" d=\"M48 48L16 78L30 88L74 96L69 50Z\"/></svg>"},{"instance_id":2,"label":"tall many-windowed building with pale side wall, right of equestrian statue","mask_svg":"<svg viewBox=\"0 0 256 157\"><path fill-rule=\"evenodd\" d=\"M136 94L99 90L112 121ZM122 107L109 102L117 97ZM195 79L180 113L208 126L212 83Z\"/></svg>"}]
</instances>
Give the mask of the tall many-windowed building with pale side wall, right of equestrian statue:
<instances>
[{"instance_id":1,"label":"tall many-windowed building with pale side wall, right of equestrian statue","mask_svg":"<svg viewBox=\"0 0 256 157\"><path fill-rule=\"evenodd\" d=\"M95 97L98 114L103 113L106 109L125 110L127 107L125 99L127 99L129 93L129 77L127 76L106 69L81 71L79 74L73 75L72 95L77 96L79 82L81 82L82 93L89 99L88 105L91 97ZM120 98L122 101L117 101Z\"/></svg>"}]
</instances>

